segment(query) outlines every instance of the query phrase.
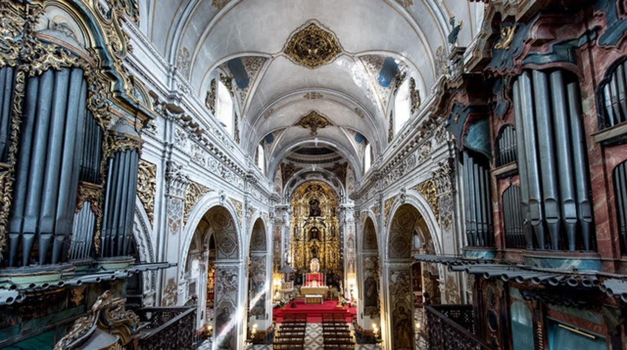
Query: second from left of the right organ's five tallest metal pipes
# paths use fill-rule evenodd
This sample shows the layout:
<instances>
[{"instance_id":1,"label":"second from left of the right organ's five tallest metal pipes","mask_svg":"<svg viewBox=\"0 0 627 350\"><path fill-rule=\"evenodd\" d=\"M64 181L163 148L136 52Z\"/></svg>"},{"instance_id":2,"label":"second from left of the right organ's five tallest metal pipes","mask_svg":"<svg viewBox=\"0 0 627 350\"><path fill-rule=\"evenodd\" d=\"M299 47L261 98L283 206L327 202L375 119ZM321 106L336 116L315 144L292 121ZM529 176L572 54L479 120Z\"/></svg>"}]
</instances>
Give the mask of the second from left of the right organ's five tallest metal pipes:
<instances>
[{"instance_id":1,"label":"second from left of the right organ's five tallest metal pipes","mask_svg":"<svg viewBox=\"0 0 627 350\"><path fill-rule=\"evenodd\" d=\"M519 78L520 100L522 105L522 123L525 129L525 156L527 158L527 181L529 184L529 219L540 249L545 247L544 215L540 202L540 174L535 141L534 101L529 72L525 71Z\"/></svg>"}]
</instances>

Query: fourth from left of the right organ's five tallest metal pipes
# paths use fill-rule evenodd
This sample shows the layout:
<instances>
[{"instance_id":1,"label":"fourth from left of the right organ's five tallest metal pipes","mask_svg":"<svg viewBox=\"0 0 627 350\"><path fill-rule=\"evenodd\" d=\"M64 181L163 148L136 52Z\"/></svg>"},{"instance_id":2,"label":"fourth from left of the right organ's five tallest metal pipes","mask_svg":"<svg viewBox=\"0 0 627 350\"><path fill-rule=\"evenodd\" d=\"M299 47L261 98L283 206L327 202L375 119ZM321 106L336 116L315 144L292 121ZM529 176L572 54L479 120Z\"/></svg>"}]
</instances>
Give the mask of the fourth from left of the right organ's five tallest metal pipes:
<instances>
[{"instance_id":1,"label":"fourth from left of the right organ's five tallest metal pipes","mask_svg":"<svg viewBox=\"0 0 627 350\"><path fill-rule=\"evenodd\" d=\"M562 71L551 73L551 97L553 102L553 122L557 145L557 168L561 175L559 181L562 200L562 220L566 229L569 250L575 250L577 229L577 209L575 207L574 183L572 179L571 139L568 133L567 101L564 95L564 77ZM553 249L558 249L554 242Z\"/></svg>"}]
</instances>

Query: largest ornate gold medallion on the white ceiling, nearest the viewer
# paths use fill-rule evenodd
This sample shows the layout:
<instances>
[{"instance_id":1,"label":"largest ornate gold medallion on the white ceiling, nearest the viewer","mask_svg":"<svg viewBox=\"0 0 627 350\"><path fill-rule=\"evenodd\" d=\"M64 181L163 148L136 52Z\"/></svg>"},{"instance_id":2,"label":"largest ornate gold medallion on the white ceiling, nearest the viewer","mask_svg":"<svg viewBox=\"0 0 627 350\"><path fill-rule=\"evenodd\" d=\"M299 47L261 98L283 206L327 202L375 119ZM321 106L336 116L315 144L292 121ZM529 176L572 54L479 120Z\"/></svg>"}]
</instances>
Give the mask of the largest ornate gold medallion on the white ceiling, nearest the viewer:
<instances>
[{"instance_id":1,"label":"largest ornate gold medallion on the white ceiling, nearest the viewer","mask_svg":"<svg viewBox=\"0 0 627 350\"><path fill-rule=\"evenodd\" d=\"M310 23L292 34L283 51L294 63L314 69L333 61L342 48L333 34Z\"/></svg>"}]
</instances>

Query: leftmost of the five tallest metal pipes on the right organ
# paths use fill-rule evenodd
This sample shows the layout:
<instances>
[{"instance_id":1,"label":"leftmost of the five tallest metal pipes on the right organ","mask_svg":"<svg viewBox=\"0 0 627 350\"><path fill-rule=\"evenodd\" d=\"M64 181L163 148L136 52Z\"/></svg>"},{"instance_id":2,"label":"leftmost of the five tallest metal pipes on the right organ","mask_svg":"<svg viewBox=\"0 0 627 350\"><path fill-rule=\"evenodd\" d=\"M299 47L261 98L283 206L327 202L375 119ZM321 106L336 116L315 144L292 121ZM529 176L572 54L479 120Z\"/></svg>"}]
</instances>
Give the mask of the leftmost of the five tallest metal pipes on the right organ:
<instances>
[{"instance_id":1,"label":"leftmost of the five tallest metal pipes on the right organ","mask_svg":"<svg viewBox=\"0 0 627 350\"><path fill-rule=\"evenodd\" d=\"M518 172L520 178L520 204L522 205L522 229L525 235L527 249L533 249L534 238L530 225L529 213L529 185L527 184L527 157L525 155L525 134L522 123L522 104L520 101L520 83L514 81L512 86L514 100L514 120L516 123L516 147L518 157Z\"/></svg>"}]
</instances>

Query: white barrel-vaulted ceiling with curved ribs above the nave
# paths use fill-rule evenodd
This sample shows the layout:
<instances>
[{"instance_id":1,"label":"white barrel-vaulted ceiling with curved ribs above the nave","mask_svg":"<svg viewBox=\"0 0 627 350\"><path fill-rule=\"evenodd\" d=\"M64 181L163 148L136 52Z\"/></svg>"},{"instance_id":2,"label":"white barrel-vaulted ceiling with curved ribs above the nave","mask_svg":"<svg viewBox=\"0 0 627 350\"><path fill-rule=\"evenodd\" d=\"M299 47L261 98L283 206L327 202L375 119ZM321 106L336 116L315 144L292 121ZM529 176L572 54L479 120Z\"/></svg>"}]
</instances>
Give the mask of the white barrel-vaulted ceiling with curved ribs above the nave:
<instances>
[{"instance_id":1,"label":"white barrel-vaulted ceiling with curved ribs above the nave","mask_svg":"<svg viewBox=\"0 0 627 350\"><path fill-rule=\"evenodd\" d=\"M361 177L364 139L387 145L395 81L414 78L422 98L448 55L450 18L459 46L478 33L483 4L466 0L146 0L140 29L187 78L201 100L211 80L233 76L242 147L262 142L268 176L294 147L331 146ZM290 43L310 24L332 41L330 57L308 64ZM327 47L329 48L329 47ZM298 125L311 113L326 121ZM301 123L302 124L302 123ZM276 159L275 159L276 158Z\"/></svg>"}]
</instances>

